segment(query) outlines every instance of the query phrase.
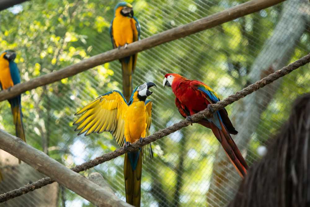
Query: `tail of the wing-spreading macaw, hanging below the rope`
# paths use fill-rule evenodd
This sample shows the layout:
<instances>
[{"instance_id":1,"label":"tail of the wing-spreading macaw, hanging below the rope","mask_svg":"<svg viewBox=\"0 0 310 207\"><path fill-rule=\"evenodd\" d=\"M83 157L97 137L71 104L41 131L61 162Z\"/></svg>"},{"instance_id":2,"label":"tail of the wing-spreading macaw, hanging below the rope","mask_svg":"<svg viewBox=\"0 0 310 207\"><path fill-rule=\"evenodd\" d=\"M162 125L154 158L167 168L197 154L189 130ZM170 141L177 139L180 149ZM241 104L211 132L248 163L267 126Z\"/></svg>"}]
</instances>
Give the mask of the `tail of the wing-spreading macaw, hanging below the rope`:
<instances>
[{"instance_id":1,"label":"tail of the wing-spreading macaw, hanging below the rope","mask_svg":"<svg viewBox=\"0 0 310 207\"><path fill-rule=\"evenodd\" d=\"M126 202L139 207L141 200L142 151L125 154L124 178Z\"/></svg>"}]
</instances>

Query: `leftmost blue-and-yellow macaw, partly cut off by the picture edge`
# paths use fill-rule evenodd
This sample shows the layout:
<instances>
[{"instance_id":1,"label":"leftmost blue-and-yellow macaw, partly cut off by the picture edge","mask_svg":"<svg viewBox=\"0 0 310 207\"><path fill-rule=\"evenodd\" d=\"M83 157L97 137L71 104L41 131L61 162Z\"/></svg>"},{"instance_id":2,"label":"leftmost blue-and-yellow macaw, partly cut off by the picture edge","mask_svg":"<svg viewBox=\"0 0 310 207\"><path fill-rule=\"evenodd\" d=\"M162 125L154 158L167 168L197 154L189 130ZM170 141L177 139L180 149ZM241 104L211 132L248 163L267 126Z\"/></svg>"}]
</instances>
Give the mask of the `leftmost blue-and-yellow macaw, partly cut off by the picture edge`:
<instances>
[{"instance_id":1,"label":"leftmost blue-and-yellow macaw, partly cut off by the picture edge","mask_svg":"<svg viewBox=\"0 0 310 207\"><path fill-rule=\"evenodd\" d=\"M14 62L15 57L16 53L13 50L6 50L0 55L0 88L2 90L10 90L13 85L20 83L20 71ZM20 103L21 96L18 95L8 101L11 105L16 137L26 142Z\"/></svg>"}]
</instances>

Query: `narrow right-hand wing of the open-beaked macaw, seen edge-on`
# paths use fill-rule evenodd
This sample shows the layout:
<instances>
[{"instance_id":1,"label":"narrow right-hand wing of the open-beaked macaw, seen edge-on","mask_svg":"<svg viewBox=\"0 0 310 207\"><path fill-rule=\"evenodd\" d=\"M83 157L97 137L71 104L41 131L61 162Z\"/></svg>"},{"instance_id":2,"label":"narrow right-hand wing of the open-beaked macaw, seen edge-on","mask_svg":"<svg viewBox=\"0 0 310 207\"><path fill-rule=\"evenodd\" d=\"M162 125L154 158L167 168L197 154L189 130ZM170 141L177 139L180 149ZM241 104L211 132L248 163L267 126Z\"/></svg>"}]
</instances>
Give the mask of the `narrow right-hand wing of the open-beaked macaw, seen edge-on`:
<instances>
[{"instance_id":1,"label":"narrow right-hand wing of the open-beaked macaw, seen edge-on","mask_svg":"<svg viewBox=\"0 0 310 207\"><path fill-rule=\"evenodd\" d=\"M145 114L146 114L146 133L145 136L147 137L148 135L150 135L150 128L151 128L151 123L152 123L152 101L151 100L147 100L145 101ZM143 154L143 158L144 156L146 156L150 161L153 158L153 151L152 151L152 145L151 143L148 145L144 145L142 148L142 154Z\"/></svg>"}]
</instances>

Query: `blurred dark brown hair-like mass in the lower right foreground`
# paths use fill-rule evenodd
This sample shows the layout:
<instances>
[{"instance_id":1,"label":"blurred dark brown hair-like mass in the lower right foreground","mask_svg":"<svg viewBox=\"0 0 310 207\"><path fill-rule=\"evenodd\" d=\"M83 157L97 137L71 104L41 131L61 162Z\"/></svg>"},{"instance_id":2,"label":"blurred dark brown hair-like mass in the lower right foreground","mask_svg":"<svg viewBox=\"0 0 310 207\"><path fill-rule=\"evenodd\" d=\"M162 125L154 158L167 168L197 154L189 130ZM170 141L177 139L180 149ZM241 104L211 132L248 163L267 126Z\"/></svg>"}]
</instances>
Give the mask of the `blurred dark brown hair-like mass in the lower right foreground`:
<instances>
[{"instance_id":1,"label":"blurred dark brown hair-like mass in the lower right foreground","mask_svg":"<svg viewBox=\"0 0 310 207\"><path fill-rule=\"evenodd\" d=\"M228 207L310 206L310 94L295 100L288 121L253 164Z\"/></svg>"}]
</instances>

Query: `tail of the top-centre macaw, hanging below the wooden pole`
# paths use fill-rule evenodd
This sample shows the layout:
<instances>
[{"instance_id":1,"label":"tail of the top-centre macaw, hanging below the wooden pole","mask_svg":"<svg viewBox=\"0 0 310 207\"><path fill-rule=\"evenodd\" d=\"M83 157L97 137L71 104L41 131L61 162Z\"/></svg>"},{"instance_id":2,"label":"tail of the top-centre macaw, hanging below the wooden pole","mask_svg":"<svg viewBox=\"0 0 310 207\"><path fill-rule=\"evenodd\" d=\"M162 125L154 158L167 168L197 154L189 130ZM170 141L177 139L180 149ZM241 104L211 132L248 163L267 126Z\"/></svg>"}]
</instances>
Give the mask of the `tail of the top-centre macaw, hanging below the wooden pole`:
<instances>
[{"instance_id":1,"label":"tail of the top-centre macaw, hanging below the wooden pole","mask_svg":"<svg viewBox=\"0 0 310 207\"><path fill-rule=\"evenodd\" d=\"M129 102L132 93L132 74L135 70L137 55L125 57L120 59L122 64L122 75L123 75L123 95L127 102Z\"/></svg>"}]
</instances>

